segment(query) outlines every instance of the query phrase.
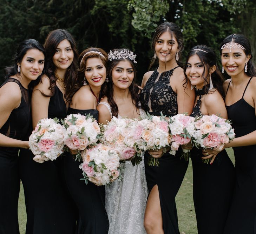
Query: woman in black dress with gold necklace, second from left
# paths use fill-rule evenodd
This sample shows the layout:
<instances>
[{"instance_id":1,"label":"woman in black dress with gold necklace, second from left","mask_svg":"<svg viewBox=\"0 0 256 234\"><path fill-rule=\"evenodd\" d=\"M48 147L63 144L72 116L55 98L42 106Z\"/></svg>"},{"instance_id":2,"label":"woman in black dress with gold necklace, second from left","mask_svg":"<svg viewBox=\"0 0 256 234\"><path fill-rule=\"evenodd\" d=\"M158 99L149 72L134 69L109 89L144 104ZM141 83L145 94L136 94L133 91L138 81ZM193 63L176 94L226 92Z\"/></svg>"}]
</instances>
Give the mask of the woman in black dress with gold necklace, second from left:
<instances>
[{"instance_id":1,"label":"woman in black dress with gold necklace, second from left","mask_svg":"<svg viewBox=\"0 0 256 234\"><path fill-rule=\"evenodd\" d=\"M78 53L74 39L67 31L57 29L50 32L45 49L47 72L32 93L33 128L42 118L65 118L72 97L71 87L77 77ZM74 233L76 211L62 181L61 157L37 163L33 156L29 150L20 151L19 166L27 211L26 233Z\"/></svg>"}]
</instances>

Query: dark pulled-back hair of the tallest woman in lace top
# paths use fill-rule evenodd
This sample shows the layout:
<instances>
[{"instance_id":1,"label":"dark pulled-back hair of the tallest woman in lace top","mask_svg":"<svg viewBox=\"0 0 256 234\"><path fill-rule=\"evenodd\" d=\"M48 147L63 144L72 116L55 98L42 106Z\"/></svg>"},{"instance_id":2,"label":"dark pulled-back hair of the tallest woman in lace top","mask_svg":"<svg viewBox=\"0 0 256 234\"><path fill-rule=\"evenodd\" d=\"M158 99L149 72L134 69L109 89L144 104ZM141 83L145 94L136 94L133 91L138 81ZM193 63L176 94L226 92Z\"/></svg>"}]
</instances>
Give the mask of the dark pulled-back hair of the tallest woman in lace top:
<instances>
[{"instance_id":1,"label":"dark pulled-back hair of the tallest woman in lace top","mask_svg":"<svg viewBox=\"0 0 256 234\"><path fill-rule=\"evenodd\" d=\"M159 36L164 33L164 32L170 32L171 33L171 38L173 38L173 36L175 36L175 38L177 39L178 42L178 54L179 54L179 60L177 61L177 64L182 67L182 62L180 62L180 58L181 58L181 54L182 51L184 49L184 43L183 43L183 34L179 28L178 25L176 25L175 23L172 22L164 22L163 24L160 24L157 28L156 31L153 35L152 38L152 43L151 43L151 48L152 51L155 53L155 46L156 46L156 42L159 38ZM155 58L151 59L151 63L149 66L149 69L152 67L153 63L156 61Z\"/></svg>"}]
</instances>

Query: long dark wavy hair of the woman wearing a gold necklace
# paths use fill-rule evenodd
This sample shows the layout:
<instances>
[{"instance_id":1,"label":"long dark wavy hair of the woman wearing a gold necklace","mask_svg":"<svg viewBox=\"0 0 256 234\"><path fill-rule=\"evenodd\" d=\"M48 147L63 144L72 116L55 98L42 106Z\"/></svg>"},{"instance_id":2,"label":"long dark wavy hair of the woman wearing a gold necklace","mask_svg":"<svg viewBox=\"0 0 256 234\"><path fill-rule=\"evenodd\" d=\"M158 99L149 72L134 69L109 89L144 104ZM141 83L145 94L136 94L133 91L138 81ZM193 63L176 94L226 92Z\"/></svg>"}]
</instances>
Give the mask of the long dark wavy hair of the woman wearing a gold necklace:
<instances>
[{"instance_id":1,"label":"long dark wavy hair of the woman wearing a gold necklace","mask_svg":"<svg viewBox=\"0 0 256 234\"><path fill-rule=\"evenodd\" d=\"M56 52L56 48L58 47L59 43L63 40L68 40L70 42L71 48L74 53L74 58L71 63L71 65L67 68L64 82L66 85L66 92L64 94L66 100L68 102L71 102L72 100L72 94L71 94L71 89L76 83L77 79L77 58L78 58L78 51L76 48L76 42L73 38L73 36L67 32L65 29L56 29L54 31L51 31L46 39L45 39L45 50L46 50L46 61L47 61L47 71L46 75L50 79L50 87L49 89L51 90L50 95L45 95L44 96L53 96L55 93L55 86L56 86L56 77L54 75L55 71L55 66L52 61L53 55Z\"/></svg>"}]
</instances>

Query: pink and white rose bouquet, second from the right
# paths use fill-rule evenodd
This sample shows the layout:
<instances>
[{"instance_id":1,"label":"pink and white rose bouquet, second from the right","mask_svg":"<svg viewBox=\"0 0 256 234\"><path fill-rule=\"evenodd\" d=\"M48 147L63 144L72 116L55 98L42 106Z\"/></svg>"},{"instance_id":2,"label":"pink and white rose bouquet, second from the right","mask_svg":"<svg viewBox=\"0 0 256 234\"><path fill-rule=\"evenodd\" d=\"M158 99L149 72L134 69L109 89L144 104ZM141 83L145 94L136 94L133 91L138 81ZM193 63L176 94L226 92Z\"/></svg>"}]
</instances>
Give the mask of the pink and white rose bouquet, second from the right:
<instances>
[{"instance_id":1,"label":"pink and white rose bouquet, second from the right","mask_svg":"<svg viewBox=\"0 0 256 234\"><path fill-rule=\"evenodd\" d=\"M180 145L186 145L191 142L191 135L195 132L194 118L188 114L177 114L169 117L169 128L171 131L171 151L170 154L175 155ZM183 149L180 158L189 160L189 150Z\"/></svg>"}]
</instances>

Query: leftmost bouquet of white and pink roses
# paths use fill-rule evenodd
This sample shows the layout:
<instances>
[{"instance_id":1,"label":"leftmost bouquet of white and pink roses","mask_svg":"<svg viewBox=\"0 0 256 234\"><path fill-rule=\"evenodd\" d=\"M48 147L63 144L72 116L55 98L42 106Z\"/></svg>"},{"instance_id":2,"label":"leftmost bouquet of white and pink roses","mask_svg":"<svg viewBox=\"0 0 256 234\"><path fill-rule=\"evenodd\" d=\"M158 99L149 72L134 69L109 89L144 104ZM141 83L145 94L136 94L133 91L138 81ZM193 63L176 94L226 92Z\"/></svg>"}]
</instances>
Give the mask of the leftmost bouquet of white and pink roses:
<instances>
[{"instance_id":1,"label":"leftmost bouquet of white and pink roses","mask_svg":"<svg viewBox=\"0 0 256 234\"><path fill-rule=\"evenodd\" d=\"M35 155L33 160L39 163L55 160L63 153L63 127L59 120L41 119L29 136L29 148Z\"/></svg>"}]
</instances>

